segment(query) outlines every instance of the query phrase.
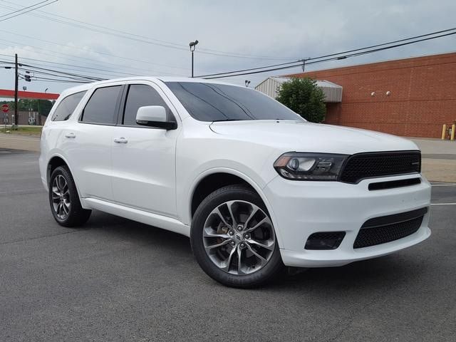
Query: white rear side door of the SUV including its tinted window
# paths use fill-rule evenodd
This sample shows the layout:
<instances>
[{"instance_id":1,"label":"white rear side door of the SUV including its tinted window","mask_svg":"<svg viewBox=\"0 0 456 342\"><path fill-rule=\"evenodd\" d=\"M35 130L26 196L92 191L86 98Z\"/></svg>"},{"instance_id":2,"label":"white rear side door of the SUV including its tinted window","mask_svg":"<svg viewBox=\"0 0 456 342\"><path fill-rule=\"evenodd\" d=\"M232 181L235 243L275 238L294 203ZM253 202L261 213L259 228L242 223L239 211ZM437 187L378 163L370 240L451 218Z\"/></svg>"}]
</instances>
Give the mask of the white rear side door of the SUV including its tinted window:
<instances>
[{"instance_id":1,"label":"white rear side door of the SUV including its tinted window","mask_svg":"<svg viewBox=\"0 0 456 342\"><path fill-rule=\"evenodd\" d=\"M123 85L93 90L78 121L66 130L66 152L81 197L113 200L111 149Z\"/></svg>"}]
</instances>

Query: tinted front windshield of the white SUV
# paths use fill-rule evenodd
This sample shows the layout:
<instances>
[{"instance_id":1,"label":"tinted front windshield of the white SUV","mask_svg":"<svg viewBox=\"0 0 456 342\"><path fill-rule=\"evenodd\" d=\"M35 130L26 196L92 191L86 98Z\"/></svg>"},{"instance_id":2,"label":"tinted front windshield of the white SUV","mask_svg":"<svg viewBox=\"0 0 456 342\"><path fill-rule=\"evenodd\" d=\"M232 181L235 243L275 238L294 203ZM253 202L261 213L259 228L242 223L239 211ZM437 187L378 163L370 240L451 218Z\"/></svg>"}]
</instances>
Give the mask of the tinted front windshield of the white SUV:
<instances>
[{"instance_id":1,"label":"tinted front windshield of the white SUV","mask_svg":"<svg viewBox=\"0 0 456 342\"><path fill-rule=\"evenodd\" d=\"M256 90L199 82L165 82L199 121L303 120L281 103Z\"/></svg>"}]
</instances>

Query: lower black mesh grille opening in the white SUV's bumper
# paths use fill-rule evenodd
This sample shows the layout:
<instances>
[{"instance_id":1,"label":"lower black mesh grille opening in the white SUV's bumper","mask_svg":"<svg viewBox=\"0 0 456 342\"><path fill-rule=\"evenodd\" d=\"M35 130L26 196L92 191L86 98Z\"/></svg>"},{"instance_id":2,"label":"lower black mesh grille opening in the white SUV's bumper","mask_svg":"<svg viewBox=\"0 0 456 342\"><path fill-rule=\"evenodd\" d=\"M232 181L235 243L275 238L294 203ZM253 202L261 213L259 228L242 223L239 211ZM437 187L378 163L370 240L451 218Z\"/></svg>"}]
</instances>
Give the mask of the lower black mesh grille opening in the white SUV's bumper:
<instances>
[{"instance_id":1,"label":"lower black mesh grille opening in the white SUV's bumper","mask_svg":"<svg viewBox=\"0 0 456 342\"><path fill-rule=\"evenodd\" d=\"M363 248L392 242L418 231L423 222L427 208L405 212L397 215L377 217L363 224L355 239L353 248ZM420 215L417 217L417 215ZM413 217L413 218L410 218ZM405 219L400 222L387 223L391 220ZM375 225L374 225L375 224Z\"/></svg>"}]
</instances>

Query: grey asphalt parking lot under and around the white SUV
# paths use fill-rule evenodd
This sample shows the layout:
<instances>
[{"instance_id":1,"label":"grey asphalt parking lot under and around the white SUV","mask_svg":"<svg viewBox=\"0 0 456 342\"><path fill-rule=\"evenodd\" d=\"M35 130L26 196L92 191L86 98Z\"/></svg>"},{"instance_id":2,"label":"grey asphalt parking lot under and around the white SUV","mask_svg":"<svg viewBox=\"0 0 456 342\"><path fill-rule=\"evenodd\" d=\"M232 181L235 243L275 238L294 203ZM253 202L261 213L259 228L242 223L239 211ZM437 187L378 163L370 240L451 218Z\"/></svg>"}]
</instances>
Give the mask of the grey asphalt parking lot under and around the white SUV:
<instances>
[{"instance_id":1,"label":"grey asphalt parking lot under and around the white SUV","mask_svg":"<svg viewBox=\"0 0 456 342\"><path fill-rule=\"evenodd\" d=\"M418 246L238 290L178 234L102 212L58 226L37 159L0 150L0 341L456 341L455 204Z\"/></svg>"}]
</instances>

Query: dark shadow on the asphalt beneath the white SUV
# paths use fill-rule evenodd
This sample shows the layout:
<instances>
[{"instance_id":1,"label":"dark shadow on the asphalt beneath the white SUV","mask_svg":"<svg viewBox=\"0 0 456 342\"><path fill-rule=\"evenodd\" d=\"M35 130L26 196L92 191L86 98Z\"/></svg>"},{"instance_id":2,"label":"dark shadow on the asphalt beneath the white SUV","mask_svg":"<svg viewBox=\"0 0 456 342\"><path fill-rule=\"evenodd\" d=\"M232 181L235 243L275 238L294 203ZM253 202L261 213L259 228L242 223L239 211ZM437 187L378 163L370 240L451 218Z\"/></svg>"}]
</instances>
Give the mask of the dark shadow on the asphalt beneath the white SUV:
<instances>
[{"instance_id":1,"label":"dark shadow on the asphalt beneath the white SUV","mask_svg":"<svg viewBox=\"0 0 456 342\"><path fill-rule=\"evenodd\" d=\"M192 257L190 239L165 229L94 211L87 229L101 232L110 238L127 241L138 246L150 246L166 254L178 254L192 259L195 269L197 262ZM407 251L407 250L406 250ZM411 251L411 250L409 250ZM190 266L190 264L189 264ZM262 287L264 291L311 291L314 295L328 296L327 291L366 292L410 284L414 279L425 276L426 264L413 252L398 252L389 256L356 261L340 267L313 269L291 269L284 271L274 281ZM203 277L204 278L204 277ZM210 285L222 286L207 278ZM208 285L208 284L206 284Z\"/></svg>"}]
</instances>

